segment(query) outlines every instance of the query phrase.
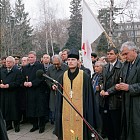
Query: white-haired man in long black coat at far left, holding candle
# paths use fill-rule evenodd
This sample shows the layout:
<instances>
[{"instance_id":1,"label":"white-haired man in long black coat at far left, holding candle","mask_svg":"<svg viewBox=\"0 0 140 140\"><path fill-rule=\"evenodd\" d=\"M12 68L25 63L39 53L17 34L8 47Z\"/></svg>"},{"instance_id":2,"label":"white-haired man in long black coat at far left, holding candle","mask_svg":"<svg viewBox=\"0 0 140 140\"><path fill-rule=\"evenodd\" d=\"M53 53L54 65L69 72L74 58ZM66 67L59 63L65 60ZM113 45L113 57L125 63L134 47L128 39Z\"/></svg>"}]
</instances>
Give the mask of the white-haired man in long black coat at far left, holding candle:
<instances>
[{"instance_id":1,"label":"white-haired man in long black coat at far left, holding candle","mask_svg":"<svg viewBox=\"0 0 140 140\"><path fill-rule=\"evenodd\" d=\"M1 110L6 120L7 130L12 129L14 121L15 132L19 132L19 101L18 88L22 82L20 70L14 67L15 59L12 56L6 58L6 69L1 70Z\"/></svg>"}]
</instances>

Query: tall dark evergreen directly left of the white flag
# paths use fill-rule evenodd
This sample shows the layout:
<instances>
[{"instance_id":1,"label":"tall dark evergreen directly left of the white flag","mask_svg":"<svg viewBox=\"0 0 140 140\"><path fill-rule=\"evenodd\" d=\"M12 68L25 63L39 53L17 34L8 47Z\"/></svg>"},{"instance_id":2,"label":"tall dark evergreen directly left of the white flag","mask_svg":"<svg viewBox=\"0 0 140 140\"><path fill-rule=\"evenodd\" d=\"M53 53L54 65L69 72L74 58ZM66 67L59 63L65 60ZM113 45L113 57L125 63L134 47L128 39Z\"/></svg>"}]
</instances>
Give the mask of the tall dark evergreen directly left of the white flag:
<instances>
[{"instance_id":1,"label":"tall dark evergreen directly left of the white flag","mask_svg":"<svg viewBox=\"0 0 140 140\"><path fill-rule=\"evenodd\" d=\"M70 3L70 26L68 28L69 38L65 44L65 48L80 49L82 35L82 15L81 15L81 0L72 0Z\"/></svg>"}]
</instances>

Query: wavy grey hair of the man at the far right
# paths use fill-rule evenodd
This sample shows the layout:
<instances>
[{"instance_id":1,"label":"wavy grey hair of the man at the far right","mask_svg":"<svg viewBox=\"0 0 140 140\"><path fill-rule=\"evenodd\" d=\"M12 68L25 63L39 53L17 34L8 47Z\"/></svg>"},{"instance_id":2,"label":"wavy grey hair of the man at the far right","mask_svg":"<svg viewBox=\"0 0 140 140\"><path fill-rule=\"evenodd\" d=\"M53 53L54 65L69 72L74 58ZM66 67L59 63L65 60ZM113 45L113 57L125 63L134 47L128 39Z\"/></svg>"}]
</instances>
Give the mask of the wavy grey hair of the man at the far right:
<instances>
[{"instance_id":1,"label":"wavy grey hair of the man at the far right","mask_svg":"<svg viewBox=\"0 0 140 140\"><path fill-rule=\"evenodd\" d=\"M120 48L120 51L122 51L125 47L127 47L129 50L136 50L136 51L138 50L137 46L132 41L127 41L127 42L123 43Z\"/></svg>"}]
</instances>

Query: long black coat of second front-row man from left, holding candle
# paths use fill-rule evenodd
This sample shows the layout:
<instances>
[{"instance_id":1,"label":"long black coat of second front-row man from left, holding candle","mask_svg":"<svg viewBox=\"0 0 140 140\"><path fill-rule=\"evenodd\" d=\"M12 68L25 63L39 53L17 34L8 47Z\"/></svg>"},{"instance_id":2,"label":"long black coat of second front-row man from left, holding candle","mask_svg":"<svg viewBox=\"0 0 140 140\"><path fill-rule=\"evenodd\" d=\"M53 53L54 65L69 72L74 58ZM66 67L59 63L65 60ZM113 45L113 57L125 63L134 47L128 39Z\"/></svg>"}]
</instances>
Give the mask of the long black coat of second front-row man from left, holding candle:
<instances>
[{"instance_id":1,"label":"long black coat of second front-row man from left, holding candle","mask_svg":"<svg viewBox=\"0 0 140 140\"><path fill-rule=\"evenodd\" d=\"M43 64L35 62L28 64L22 70L24 81L32 82L32 87L26 88L26 113L27 117L41 117L46 115L45 81L36 76L37 70L44 70Z\"/></svg>"}]
</instances>

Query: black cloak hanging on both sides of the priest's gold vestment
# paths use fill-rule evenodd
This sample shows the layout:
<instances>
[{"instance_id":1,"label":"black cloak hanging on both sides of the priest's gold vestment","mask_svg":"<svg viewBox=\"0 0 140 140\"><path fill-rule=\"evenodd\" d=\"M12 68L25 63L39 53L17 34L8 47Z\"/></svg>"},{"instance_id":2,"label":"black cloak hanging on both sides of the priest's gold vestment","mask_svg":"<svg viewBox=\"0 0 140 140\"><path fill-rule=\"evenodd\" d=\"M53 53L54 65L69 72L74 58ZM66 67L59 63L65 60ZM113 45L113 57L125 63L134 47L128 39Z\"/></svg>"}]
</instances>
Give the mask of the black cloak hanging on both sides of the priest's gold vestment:
<instances>
[{"instance_id":1,"label":"black cloak hanging on both sides of the priest's gold vestment","mask_svg":"<svg viewBox=\"0 0 140 140\"><path fill-rule=\"evenodd\" d=\"M63 75L60 77L59 82L63 86ZM80 83L77 83L77 86ZM62 91L62 88L60 88ZM58 92L56 100L56 121L55 121L55 134L58 138L62 138L62 104L63 97ZM83 117L89 122L89 124L95 126L94 110L93 110L93 92L91 85L91 78L84 73L83 74ZM91 131L83 122L83 140L91 139Z\"/></svg>"}]
</instances>

